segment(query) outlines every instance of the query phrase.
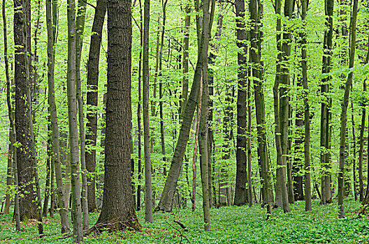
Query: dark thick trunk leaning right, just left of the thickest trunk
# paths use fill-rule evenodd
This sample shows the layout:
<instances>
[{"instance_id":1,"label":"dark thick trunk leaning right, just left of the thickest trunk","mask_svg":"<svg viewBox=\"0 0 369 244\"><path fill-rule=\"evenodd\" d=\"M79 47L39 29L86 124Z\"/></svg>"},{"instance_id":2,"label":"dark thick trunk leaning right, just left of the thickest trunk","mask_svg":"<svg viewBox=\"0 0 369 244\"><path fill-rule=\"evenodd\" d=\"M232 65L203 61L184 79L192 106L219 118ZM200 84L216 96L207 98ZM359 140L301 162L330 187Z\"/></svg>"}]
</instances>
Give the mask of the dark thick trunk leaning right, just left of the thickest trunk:
<instances>
[{"instance_id":1,"label":"dark thick trunk leaning right, just left of the thickest trunk","mask_svg":"<svg viewBox=\"0 0 369 244\"><path fill-rule=\"evenodd\" d=\"M96 3L92 36L89 44L89 59L87 66L87 124L86 146L90 146L85 153L86 169L89 178L87 185L87 201L89 212L96 210L96 135L97 135L97 105L99 87L99 59L103 22L106 14L106 0Z\"/></svg>"}]
</instances>

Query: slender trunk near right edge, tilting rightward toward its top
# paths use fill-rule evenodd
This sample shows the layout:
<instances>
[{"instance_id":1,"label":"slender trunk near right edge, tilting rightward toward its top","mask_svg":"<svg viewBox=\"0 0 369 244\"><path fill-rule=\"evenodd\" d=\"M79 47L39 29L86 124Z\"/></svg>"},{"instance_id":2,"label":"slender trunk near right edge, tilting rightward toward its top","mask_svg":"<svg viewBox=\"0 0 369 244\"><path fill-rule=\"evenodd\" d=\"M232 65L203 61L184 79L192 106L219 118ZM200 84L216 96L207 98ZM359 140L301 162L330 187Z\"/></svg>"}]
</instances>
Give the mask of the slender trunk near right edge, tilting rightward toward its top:
<instances>
[{"instance_id":1,"label":"slender trunk near right edge, tilting rightward toward its top","mask_svg":"<svg viewBox=\"0 0 369 244\"><path fill-rule=\"evenodd\" d=\"M354 0L352 8L352 17L350 23L350 47L349 47L349 68L354 67L355 60L355 45L356 45L356 17L358 11L358 0ZM345 95L342 102L341 111L341 128L340 128L340 166L338 171L338 206L340 208L339 218L345 218L345 210L343 206L343 198L345 197L344 188L344 171L345 171L345 142L347 128L347 107L349 104L349 91L352 86L354 73L350 72L347 76L345 84Z\"/></svg>"}]
</instances>

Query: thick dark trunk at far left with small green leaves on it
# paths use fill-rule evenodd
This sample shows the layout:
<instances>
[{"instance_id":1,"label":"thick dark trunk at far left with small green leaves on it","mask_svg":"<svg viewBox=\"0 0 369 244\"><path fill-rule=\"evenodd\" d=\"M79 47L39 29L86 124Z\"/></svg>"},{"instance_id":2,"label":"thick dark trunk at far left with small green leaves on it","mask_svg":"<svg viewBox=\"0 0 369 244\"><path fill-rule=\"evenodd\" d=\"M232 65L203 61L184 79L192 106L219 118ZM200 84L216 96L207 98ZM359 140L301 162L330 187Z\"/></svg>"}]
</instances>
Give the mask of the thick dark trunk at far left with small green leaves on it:
<instances>
[{"instance_id":1,"label":"thick dark trunk at far left with small green leaves on it","mask_svg":"<svg viewBox=\"0 0 369 244\"><path fill-rule=\"evenodd\" d=\"M24 6L24 7L23 7ZM14 45L15 45L15 132L17 143L17 174L20 193L24 196L19 201L20 220L27 221L30 218L37 218L37 208L34 192L34 162L32 156L32 139L30 136L31 118L29 117L30 104L27 102L27 91L31 86L26 75L26 61L24 53L31 53L31 38L23 36L23 24L27 23L27 32L30 33L31 25L31 3L24 0L14 2ZM23 21L24 17L24 21ZM26 45L27 43L27 45ZM25 47L28 49L26 50ZM28 63L30 66L31 63ZM27 98L24 100L24 98Z\"/></svg>"}]
</instances>

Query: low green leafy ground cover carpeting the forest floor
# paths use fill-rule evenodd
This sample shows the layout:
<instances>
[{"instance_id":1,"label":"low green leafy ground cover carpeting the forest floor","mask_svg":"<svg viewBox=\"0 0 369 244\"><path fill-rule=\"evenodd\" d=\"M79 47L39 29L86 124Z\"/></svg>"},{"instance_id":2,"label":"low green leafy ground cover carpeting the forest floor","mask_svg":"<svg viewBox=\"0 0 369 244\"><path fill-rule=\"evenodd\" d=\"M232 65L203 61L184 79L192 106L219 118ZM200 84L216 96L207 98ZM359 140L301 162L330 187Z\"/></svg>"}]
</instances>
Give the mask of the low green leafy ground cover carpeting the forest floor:
<instances>
[{"instance_id":1,"label":"low green leafy ground cover carpeting the forest floor","mask_svg":"<svg viewBox=\"0 0 369 244\"><path fill-rule=\"evenodd\" d=\"M153 224L145 223L144 211L139 211L142 231L103 232L87 236L84 243L369 243L369 219L357 218L359 207L353 199L346 199L347 218L342 220L337 218L336 204L320 206L319 201L313 201L310 213L304 211L303 201L291 204L291 213L275 209L269 220L260 204L212 208L209 232L203 231L201 208L194 213L190 209L154 213ZM40 239L36 222L22 223L17 233L11 216L0 215L0 243L72 243L72 238L59 239L57 217L44 220L45 237ZM89 215L90 223L98 217L97 213Z\"/></svg>"}]
</instances>

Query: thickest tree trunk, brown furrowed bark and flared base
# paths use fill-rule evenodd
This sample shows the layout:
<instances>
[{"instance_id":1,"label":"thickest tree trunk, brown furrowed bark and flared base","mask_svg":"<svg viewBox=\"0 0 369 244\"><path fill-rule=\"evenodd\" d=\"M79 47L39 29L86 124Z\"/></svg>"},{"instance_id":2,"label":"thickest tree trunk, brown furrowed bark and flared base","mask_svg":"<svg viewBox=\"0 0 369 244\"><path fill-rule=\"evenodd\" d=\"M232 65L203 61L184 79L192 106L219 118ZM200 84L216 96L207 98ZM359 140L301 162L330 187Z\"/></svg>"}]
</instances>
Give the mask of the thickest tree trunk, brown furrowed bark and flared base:
<instances>
[{"instance_id":1,"label":"thickest tree trunk, brown furrowed bark and flared base","mask_svg":"<svg viewBox=\"0 0 369 244\"><path fill-rule=\"evenodd\" d=\"M95 227L140 229L131 190L131 1L108 0L103 208Z\"/></svg>"}]
</instances>

